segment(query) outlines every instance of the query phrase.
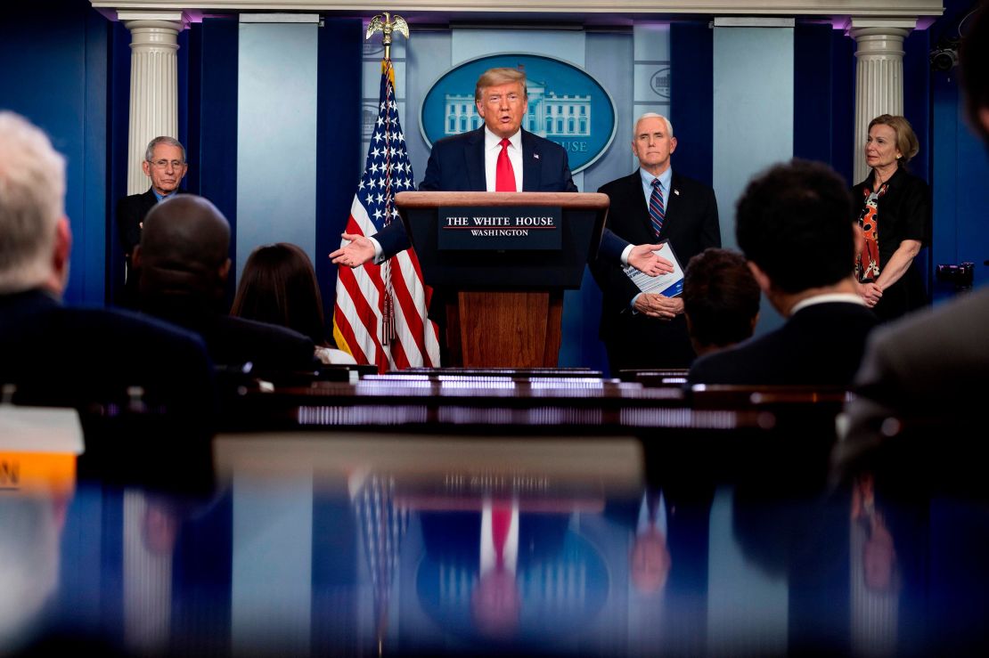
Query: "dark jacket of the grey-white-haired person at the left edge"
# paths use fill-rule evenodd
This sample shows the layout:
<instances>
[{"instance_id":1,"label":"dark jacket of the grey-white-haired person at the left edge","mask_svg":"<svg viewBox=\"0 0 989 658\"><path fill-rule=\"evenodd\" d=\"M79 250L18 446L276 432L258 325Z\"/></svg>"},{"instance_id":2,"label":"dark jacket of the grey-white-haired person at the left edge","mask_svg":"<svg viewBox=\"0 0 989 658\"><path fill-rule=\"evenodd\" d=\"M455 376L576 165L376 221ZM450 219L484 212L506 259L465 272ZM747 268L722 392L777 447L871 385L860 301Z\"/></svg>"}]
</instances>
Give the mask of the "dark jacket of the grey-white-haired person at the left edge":
<instances>
[{"instance_id":1,"label":"dark jacket of the grey-white-haired person at the left edge","mask_svg":"<svg viewBox=\"0 0 989 658\"><path fill-rule=\"evenodd\" d=\"M212 414L213 368L202 339L126 311L68 308L43 290L0 295L0 382L28 402L120 403L128 386L169 413Z\"/></svg>"}]
</instances>

